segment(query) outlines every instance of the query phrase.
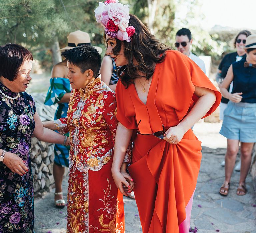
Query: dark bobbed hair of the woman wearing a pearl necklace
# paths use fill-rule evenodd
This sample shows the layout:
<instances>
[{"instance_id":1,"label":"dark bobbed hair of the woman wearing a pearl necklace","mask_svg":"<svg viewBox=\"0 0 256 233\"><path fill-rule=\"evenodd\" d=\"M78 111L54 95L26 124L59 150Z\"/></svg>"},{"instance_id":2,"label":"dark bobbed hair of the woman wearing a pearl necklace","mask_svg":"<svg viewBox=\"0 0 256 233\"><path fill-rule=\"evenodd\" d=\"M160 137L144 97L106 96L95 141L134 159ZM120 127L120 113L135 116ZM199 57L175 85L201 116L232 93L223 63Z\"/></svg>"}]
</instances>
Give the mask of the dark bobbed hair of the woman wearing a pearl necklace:
<instances>
[{"instance_id":1,"label":"dark bobbed hair of the woman wearing a pearl necklace","mask_svg":"<svg viewBox=\"0 0 256 233\"><path fill-rule=\"evenodd\" d=\"M21 45L8 43L0 46L0 76L16 79L24 60L32 61L32 53Z\"/></svg>"}]
</instances>

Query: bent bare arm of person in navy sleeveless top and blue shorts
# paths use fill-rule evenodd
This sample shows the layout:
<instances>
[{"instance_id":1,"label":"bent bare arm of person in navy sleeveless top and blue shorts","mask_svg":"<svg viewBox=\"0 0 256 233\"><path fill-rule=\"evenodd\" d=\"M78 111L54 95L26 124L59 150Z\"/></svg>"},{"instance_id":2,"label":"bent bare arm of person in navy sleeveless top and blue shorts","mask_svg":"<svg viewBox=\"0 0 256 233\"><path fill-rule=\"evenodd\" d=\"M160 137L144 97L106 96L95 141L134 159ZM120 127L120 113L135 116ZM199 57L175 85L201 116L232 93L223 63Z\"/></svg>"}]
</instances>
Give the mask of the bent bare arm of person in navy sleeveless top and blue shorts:
<instances>
[{"instance_id":1,"label":"bent bare arm of person in navy sleeveless top and blue shorts","mask_svg":"<svg viewBox=\"0 0 256 233\"><path fill-rule=\"evenodd\" d=\"M221 84L220 86L220 92L221 92L221 95L229 100L231 100L232 102L235 102L235 103L239 103L241 102L242 100L242 92L236 92L236 93L229 93L228 91L228 87L229 85L231 84L231 82L233 81L234 79L234 74L233 74L233 66L231 65L229 68L228 68L228 72L227 72L227 75L223 81L223 83Z\"/></svg>"}]
</instances>

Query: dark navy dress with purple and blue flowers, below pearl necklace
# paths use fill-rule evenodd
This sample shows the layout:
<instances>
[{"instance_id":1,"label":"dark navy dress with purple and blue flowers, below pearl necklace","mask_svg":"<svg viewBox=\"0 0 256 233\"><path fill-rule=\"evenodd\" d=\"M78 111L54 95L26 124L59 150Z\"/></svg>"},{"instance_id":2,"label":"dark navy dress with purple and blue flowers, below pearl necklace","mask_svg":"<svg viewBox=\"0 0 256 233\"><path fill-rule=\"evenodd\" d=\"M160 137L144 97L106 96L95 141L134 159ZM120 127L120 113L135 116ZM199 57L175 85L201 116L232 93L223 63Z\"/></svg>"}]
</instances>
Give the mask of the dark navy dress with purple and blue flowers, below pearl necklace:
<instances>
[{"instance_id":1,"label":"dark navy dress with purple and blue flowers, below pearl necklace","mask_svg":"<svg viewBox=\"0 0 256 233\"><path fill-rule=\"evenodd\" d=\"M0 90L11 97L17 95L1 83ZM0 148L17 154L28 168L20 176L0 162L0 233L34 232L30 146L35 112L35 102L26 92L13 101L0 93Z\"/></svg>"}]
</instances>

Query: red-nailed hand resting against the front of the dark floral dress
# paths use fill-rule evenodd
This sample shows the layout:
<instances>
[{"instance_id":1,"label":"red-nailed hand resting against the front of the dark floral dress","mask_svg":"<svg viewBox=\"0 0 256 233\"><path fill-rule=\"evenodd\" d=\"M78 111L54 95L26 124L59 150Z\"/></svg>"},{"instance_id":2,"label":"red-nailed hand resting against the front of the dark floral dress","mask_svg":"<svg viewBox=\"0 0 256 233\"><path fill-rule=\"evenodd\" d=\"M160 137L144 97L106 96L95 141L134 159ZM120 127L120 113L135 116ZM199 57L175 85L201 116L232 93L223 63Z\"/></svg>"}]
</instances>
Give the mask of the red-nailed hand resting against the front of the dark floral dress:
<instances>
[{"instance_id":1,"label":"red-nailed hand resting against the front of the dark floral dress","mask_svg":"<svg viewBox=\"0 0 256 233\"><path fill-rule=\"evenodd\" d=\"M24 161L16 154L6 152L3 163L10 168L12 172L21 176L28 172L28 168L24 164Z\"/></svg>"}]
</instances>

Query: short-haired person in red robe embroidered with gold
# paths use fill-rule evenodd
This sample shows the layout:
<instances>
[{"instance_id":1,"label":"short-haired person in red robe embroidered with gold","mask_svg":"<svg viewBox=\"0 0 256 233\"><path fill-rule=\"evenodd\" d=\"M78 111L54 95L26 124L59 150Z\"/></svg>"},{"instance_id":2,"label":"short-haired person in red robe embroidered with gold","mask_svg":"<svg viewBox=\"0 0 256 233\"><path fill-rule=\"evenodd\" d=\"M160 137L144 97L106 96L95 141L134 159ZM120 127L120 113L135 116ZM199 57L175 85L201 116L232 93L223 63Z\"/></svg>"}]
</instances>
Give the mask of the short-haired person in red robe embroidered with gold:
<instances>
[{"instance_id":1,"label":"short-haired person in red robe embroidered with gold","mask_svg":"<svg viewBox=\"0 0 256 233\"><path fill-rule=\"evenodd\" d=\"M44 126L70 132L67 232L124 233L122 194L111 175L118 124L115 92L100 79L101 57L95 48L78 46L62 56L68 60L72 87L67 117ZM124 162L130 156L131 147Z\"/></svg>"}]
</instances>

